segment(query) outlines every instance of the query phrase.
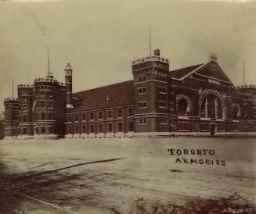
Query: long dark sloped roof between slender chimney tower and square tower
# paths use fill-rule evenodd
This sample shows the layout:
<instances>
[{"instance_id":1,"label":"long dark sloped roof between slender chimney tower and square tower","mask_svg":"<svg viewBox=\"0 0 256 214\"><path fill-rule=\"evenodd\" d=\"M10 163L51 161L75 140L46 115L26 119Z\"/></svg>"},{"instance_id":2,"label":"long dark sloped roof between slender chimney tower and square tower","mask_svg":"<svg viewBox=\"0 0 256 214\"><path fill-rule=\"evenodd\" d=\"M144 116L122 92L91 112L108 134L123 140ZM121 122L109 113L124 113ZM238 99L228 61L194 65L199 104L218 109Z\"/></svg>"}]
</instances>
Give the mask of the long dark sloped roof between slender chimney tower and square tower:
<instances>
[{"instance_id":1,"label":"long dark sloped roof between slender chimney tower and square tower","mask_svg":"<svg viewBox=\"0 0 256 214\"><path fill-rule=\"evenodd\" d=\"M73 94L74 109L70 112L133 105L133 91L133 80L80 91Z\"/></svg>"}]
</instances>

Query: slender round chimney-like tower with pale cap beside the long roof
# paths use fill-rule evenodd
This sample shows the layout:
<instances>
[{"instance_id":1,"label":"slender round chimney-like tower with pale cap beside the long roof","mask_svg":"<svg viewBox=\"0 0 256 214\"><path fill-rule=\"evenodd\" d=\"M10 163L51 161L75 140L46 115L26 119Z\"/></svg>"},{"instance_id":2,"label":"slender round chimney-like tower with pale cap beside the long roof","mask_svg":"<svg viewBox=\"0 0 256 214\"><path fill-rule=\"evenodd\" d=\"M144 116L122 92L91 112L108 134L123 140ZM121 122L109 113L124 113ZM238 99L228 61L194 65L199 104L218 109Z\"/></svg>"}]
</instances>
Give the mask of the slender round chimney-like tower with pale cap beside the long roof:
<instances>
[{"instance_id":1,"label":"slender round chimney-like tower with pale cap beside the long roof","mask_svg":"<svg viewBox=\"0 0 256 214\"><path fill-rule=\"evenodd\" d=\"M65 66L65 80L67 85L67 94L66 94L66 102L67 102L67 109L72 109L73 100L72 100L72 68L70 63L67 63Z\"/></svg>"}]
</instances>

